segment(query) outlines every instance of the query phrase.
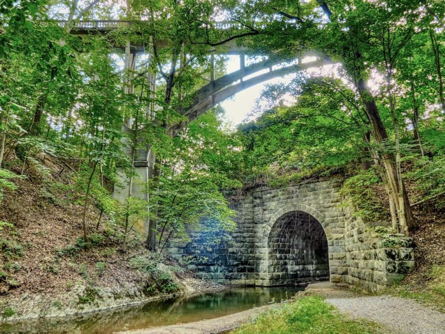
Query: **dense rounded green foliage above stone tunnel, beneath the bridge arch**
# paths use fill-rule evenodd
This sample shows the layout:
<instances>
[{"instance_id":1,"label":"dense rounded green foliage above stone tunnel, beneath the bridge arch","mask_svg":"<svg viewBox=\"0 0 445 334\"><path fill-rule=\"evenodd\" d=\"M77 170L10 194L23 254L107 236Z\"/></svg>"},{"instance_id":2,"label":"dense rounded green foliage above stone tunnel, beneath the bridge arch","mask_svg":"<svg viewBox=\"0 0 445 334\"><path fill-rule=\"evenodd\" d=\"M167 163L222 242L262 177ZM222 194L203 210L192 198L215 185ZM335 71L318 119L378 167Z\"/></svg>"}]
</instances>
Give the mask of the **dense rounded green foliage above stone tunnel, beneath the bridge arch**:
<instances>
[{"instance_id":1,"label":"dense rounded green foliage above stone tunnel, beneath the bridge arch","mask_svg":"<svg viewBox=\"0 0 445 334\"><path fill-rule=\"evenodd\" d=\"M272 179L277 173L292 173L298 180L360 158L361 146L365 147L360 137L365 127L354 123L347 113L350 109L356 112L354 106L345 110L343 97L336 90L352 93L331 78L302 76L287 86L270 85L263 91L266 101L285 94L297 101L290 107L272 107L255 122L238 127L247 171L271 174Z\"/></svg>"}]
</instances>

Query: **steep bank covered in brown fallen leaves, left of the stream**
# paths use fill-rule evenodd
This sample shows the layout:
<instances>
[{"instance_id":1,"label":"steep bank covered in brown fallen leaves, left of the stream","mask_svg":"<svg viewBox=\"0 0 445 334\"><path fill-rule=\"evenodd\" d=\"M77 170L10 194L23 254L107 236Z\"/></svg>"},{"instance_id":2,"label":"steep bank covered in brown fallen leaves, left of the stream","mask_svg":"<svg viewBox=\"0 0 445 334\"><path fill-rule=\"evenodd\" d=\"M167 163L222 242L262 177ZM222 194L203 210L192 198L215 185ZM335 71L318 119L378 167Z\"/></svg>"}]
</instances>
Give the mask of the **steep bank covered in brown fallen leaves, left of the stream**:
<instances>
[{"instance_id":1,"label":"steep bank covered in brown fallen leaves, left of the stream","mask_svg":"<svg viewBox=\"0 0 445 334\"><path fill-rule=\"evenodd\" d=\"M68 291L86 287L78 304L93 304L98 289L141 287L147 296L177 292L179 278L189 277L173 261L144 247L144 237L128 235L122 252L124 228L101 215L93 205L87 217L88 241L82 237L82 203L73 199L71 178L61 174L51 160L46 183L28 170L0 203L0 315L18 311L8 303L24 294L51 296L60 308L68 305ZM99 217L101 217L98 223ZM142 261L143 269L134 266ZM179 278L175 278L178 276ZM118 297L118 296L116 296Z\"/></svg>"}]
</instances>

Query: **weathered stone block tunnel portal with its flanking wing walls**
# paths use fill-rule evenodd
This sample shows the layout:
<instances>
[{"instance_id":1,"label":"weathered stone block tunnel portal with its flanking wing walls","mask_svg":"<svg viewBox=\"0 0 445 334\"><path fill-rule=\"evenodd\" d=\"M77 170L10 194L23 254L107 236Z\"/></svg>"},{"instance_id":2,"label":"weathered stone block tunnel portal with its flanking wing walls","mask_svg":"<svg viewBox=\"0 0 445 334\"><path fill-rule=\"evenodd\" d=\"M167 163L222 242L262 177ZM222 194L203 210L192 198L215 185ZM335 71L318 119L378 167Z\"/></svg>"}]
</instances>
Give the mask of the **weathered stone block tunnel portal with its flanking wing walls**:
<instances>
[{"instance_id":1,"label":"weathered stone block tunnel portal with its flanking wing walls","mask_svg":"<svg viewBox=\"0 0 445 334\"><path fill-rule=\"evenodd\" d=\"M414 265L409 239L385 248L349 208L339 206L341 178L259 187L235 203L233 243L202 247L200 233L169 252L199 277L226 284L271 286L319 280L377 291ZM192 261L190 259L193 258Z\"/></svg>"}]
</instances>

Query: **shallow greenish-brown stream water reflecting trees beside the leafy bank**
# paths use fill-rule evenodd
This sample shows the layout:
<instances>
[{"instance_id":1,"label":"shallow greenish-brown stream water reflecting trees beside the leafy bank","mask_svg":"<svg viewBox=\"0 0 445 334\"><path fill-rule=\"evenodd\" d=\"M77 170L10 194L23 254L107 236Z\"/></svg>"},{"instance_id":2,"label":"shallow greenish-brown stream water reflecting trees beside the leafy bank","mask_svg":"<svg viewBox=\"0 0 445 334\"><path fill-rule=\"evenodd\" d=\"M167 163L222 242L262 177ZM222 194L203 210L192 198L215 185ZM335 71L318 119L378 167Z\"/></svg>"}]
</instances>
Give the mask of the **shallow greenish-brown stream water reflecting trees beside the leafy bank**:
<instances>
[{"instance_id":1,"label":"shallow greenish-brown stream water reflecting trees beside the leafy bank","mask_svg":"<svg viewBox=\"0 0 445 334\"><path fill-rule=\"evenodd\" d=\"M231 288L194 296L154 301L142 306L89 314L78 318L45 319L1 324L0 333L112 333L211 319L279 302L304 286Z\"/></svg>"}]
</instances>

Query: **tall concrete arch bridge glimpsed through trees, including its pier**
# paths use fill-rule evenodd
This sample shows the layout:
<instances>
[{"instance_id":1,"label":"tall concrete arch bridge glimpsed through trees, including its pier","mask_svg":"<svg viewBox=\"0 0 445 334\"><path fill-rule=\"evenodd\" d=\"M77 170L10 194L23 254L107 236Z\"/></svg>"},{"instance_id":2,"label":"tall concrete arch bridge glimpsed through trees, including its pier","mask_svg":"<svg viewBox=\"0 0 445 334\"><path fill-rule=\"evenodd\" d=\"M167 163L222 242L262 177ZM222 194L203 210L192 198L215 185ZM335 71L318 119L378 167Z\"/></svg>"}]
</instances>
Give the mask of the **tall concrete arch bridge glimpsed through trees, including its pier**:
<instances>
[{"instance_id":1,"label":"tall concrete arch bridge glimpsed through trees, including its pier","mask_svg":"<svg viewBox=\"0 0 445 334\"><path fill-rule=\"evenodd\" d=\"M113 30L119 28L125 28L132 26L133 24L145 24L147 22L129 22L129 21L78 21L71 22L70 33L76 35L88 35L88 34L106 34ZM65 27L66 21L59 21L59 26ZM220 29L223 31L227 30L237 30L242 29L240 23L231 22L216 22L214 23L215 29ZM167 46L166 42L158 41L158 47ZM136 57L141 56L145 52L150 53L150 50L146 50L142 45L134 45L131 42L127 42L125 45L125 67L126 69L134 70L136 64ZM245 55L249 51L243 47L238 46L234 40L228 41L224 45L219 45L214 47L209 51L210 59L209 66L211 68L211 74L208 78L209 83L204 85L202 88L198 89L193 94L193 99L187 100L188 102L179 103L176 106L178 113L184 117L186 120L178 124L169 126L166 129L167 134L174 137L180 133L181 130L186 128L192 121L198 118L204 112L210 110L211 108L218 105L220 102L227 98L232 97L238 92L247 89L249 87L255 86L257 84L263 83L267 80L283 77L289 73L295 73L301 70L305 70L310 67L320 67L323 65L330 64L328 60L316 59L314 61L309 61L303 63L301 60L307 55L300 54L295 55L296 64L282 64L280 59L266 59L258 63L251 64L249 66L245 65ZM222 77L215 78L214 75L214 54L231 54L238 55L240 57L240 69L232 73L223 75ZM147 80L149 82L149 89L151 91L156 90L156 78L148 73ZM131 89L130 89L131 90ZM131 92L131 91L127 92ZM154 106L151 107L152 110L147 111L148 114L154 114ZM127 133L131 133L130 127L124 124L124 130ZM150 147L146 149L138 150L134 161L134 168L139 176L138 180L134 182L132 187L134 196L145 197L144 194L144 182L149 178L153 177L154 173L154 163L155 156L150 150ZM119 183L121 187L116 187L113 192L113 198L124 202L128 197L129 193L129 182L124 174L120 175ZM145 227L145 229L147 226Z\"/></svg>"}]
</instances>

